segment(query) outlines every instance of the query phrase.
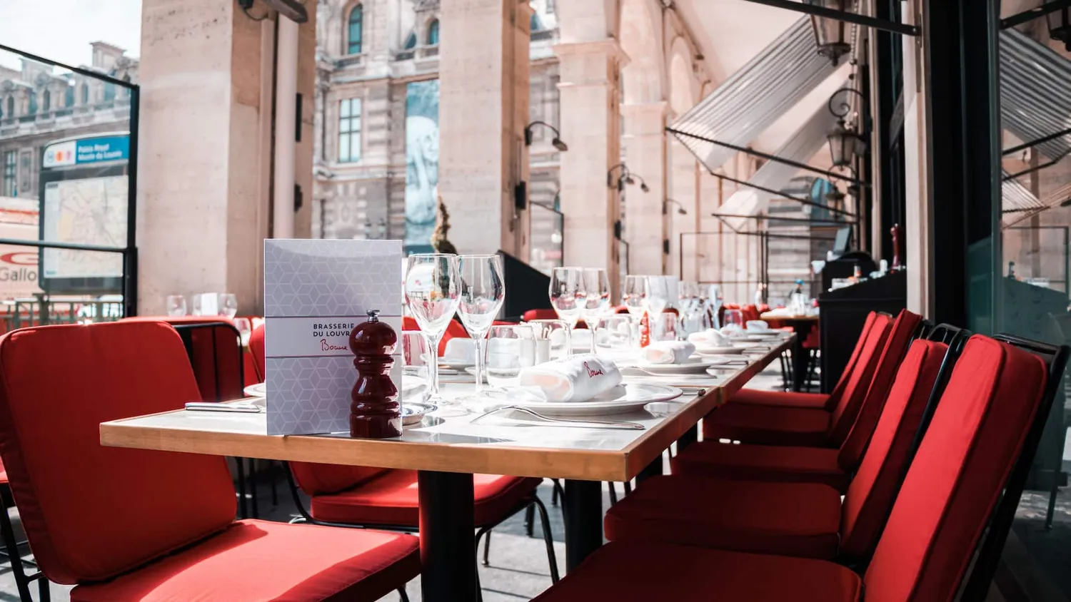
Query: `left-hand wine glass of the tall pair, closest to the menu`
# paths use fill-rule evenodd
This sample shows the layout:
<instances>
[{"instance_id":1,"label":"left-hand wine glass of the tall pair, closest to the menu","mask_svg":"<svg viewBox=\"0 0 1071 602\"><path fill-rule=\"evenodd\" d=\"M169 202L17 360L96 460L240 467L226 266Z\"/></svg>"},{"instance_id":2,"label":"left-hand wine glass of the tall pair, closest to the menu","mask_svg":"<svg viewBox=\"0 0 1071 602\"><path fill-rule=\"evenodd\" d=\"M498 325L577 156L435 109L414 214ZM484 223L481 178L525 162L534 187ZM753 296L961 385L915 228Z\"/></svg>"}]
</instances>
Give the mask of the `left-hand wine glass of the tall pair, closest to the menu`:
<instances>
[{"instance_id":1,"label":"left-hand wine glass of the tall pair, closest to the menu","mask_svg":"<svg viewBox=\"0 0 1071 602\"><path fill-rule=\"evenodd\" d=\"M409 256L405 276L405 300L427 337L427 346L439 349L447 326L457 311L457 256L417 253ZM452 405L439 395L439 366L433 361L429 400L436 405Z\"/></svg>"}]
</instances>

